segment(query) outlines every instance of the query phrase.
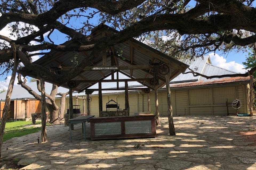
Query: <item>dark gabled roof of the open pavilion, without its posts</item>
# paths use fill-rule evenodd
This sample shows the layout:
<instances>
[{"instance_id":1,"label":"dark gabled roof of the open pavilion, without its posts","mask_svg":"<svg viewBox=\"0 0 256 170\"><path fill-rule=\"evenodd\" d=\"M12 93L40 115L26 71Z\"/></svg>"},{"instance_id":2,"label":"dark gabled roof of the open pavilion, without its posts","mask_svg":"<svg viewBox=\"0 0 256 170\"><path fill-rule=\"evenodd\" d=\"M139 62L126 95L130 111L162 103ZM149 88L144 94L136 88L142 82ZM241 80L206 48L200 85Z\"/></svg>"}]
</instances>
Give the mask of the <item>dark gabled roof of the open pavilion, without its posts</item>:
<instances>
[{"instance_id":1,"label":"dark gabled roof of the open pavilion, without its posts","mask_svg":"<svg viewBox=\"0 0 256 170\"><path fill-rule=\"evenodd\" d=\"M91 35L89 37L91 39L100 39L103 36L111 35L118 33L119 31L108 27L107 25L100 24L95 27L91 31ZM74 40L74 41L73 41ZM78 44L79 42L73 39L65 44ZM80 44L81 45L81 44ZM89 56L91 52L79 52L77 62L82 61L85 57ZM121 57L118 57L118 53L121 53ZM107 54L107 66L111 66L111 56L117 57L117 63L119 66L129 66L129 65L149 65L149 61L157 63L163 62L170 67L170 79L175 78L178 74L184 72L189 66L185 63L182 63L170 56L151 48L150 46L143 44L135 39L129 39L123 43L115 44L110 47L106 51ZM73 63L71 62L72 56L74 56L73 52L57 52L51 51L50 54L47 54L41 57L39 60L35 61L35 64L44 66L46 68L50 68L50 66L59 66L63 65L65 67L72 67ZM94 58L91 63L88 63L87 66L103 66L102 55ZM153 67L152 67L153 68ZM26 67L23 67L18 72L22 73L23 76L28 75L30 77L37 78L37 73L33 73L30 70L26 70ZM65 71L63 71L65 72ZM122 74L131 77L131 78L153 78L153 69L135 69L132 70L119 70ZM102 70L102 71L82 71L77 77L74 77L72 80L80 81L80 80L102 80L111 75L111 70ZM165 76L158 74L159 85L165 84ZM59 84L56 81L50 81L45 79L46 82ZM141 81L141 84L147 87L151 87L152 85L147 81ZM74 90L81 92L95 83L81 82L74 88ZM68 88L67 83L62 84L61 86Z\"/></svg>"}]
</instances>

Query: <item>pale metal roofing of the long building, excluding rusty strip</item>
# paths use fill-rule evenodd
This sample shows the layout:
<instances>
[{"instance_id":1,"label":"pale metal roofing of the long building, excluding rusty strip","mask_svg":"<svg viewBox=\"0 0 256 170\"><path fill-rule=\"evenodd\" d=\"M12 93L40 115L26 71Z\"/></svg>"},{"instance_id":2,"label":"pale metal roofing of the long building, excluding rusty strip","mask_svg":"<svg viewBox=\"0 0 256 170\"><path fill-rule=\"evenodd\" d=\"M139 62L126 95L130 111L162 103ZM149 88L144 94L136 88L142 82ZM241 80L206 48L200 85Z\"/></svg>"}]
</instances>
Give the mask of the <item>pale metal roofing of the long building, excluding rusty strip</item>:
<instances>
[{"instance_id":1,"label":"pale metal roofing of the long building, excluding rusty strip","mask_svg":"<svg viewBox=\"0 0 256 170\"><path fill-rule=\"evenodd\" d=\"M190 67L192 70L197 71L201 74L207 75L207 76L211 76L211 75L223 75L223 74L236 74L234 71L230 71L230 70L226 70L223 69L221 67L217 67L211 64L211 60L209 56L204 56L204 58L197 58L195 61L190 63ZM190 71L189 69L186 70ZM116 73L114 74L114 77L116 78ZM122 73L119 73L118 75L119 79L130 79L129 77L127 77L126 75L123 75ZM105 79L111 79L111 76L106 77ZM217 79L217 78L215 78ZM201 76L197 76L194 77L193 74L180 74L178 75L178 77L174 78L173 80L171 80L170 83L180 83L180 82L195 82L198 80L205 80L208 81L206 78L203 78ZM35 92L37 92L38 94L39 91L37 90L37 83L36 82L30 82L27 83L27 85L34 90ZM119 87L124 87L125 83L124 82L119 82ZM129 87L142 87L142 88L146 88L143 87L140 83L138 82L128 82L128 86ZM117 87L117 83L116 82L110 82L110 83L102 83L102 88L116 88ZM51 83L47 83L45 82L45 91L46 93L50 94L51 92L51 88L52 88L52 84ZM94 84L93 86L91 86L90 88L98 88L98 83ZM165 88L165 87L163 87ZM69 89L64 88L64 87L59 87L58 88L58 92L68 92ZM124 92L122 90L115 90L115 91L102 91L102 94L107 94L107 93L118 93L118 92ZM6 93L7 92L3 92L0 94L0 100L5 100L6 97ZM92 93L92 95L98 94L98 91L94 91ZM81 93L73 93L73 96L75 95L85 95L84 92ZM67 95L69 96L69 95ZM59 96L57 96L59 97ZM11 99L25 99L25 98L34 98L32 95L30 95L24 88L22 88L20 85L14 86L13 88L13 94L11 96Z\"/></svg>"}]
</instances>

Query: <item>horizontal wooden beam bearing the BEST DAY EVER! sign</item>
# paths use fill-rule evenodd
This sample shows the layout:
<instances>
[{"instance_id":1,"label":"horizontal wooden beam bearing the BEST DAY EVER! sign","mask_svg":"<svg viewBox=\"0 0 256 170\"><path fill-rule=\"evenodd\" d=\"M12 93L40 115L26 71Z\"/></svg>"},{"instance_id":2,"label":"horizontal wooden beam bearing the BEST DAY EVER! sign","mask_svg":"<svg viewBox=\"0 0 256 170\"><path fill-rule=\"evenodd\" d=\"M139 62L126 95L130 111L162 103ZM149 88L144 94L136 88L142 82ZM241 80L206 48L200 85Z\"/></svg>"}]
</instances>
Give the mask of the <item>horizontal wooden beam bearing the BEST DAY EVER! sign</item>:
<instances>
[{"instance_id":1,"label":"horizontal wooden beam bearing the BEST DAY EVER! sign","mask_svg":"<svg viewBox=\"0 0 256 170\"><path fill-rule=\"evenodd\" d=\"M114 65L114 63L113 63ZM63 67L63 71L69 71L73 67ZM85 67L83 71L100 71L100 70L139 70L139 69L152 69L150 65L129 65L129 66L89 66Z\"/></svg>"}]
</instances>

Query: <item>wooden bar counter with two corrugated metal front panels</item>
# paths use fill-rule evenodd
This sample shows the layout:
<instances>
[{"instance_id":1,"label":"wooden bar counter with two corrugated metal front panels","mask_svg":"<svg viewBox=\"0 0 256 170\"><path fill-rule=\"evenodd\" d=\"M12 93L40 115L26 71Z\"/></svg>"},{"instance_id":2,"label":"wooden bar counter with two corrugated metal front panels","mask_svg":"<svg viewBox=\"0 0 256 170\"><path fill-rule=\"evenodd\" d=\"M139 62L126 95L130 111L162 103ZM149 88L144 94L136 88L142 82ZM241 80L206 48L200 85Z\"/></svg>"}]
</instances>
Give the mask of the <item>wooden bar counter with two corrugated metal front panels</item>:
<instances>
[{"instance_id":1,"label":"wooden bar counter with two corrugated metal front panels","mask_svg":"<svg viewBox=\"0 0 256 170\"><path fill-rule=\"evenodd\" d=\"M156 137L155 115L90 119L91 140Z\"/></svg>"}]
</instances>

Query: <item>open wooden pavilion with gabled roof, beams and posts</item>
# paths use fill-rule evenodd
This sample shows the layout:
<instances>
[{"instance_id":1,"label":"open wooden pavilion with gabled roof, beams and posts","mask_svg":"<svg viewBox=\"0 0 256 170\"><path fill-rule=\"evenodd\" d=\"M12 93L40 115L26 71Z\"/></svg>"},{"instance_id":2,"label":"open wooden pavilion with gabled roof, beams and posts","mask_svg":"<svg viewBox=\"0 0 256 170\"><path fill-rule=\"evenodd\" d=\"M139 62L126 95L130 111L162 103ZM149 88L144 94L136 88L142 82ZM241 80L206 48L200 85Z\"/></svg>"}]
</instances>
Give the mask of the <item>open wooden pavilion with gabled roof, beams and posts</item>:
<instances>
[{"instance_id":1,"label":"open wooden pavilion with gabled roof, beams and posts","mask_svg":"<svg viewBox=\"0 0 256 170\"><path fill-rule=\"evenodd\" d=\"M108 27L107 25L100 24L91 30L91 39L100 39L106 35L114 34L117 30ZM79 44L80 42L74 37L65 44ZM34 63L43 67L49 68L56 74L67 73L73 66L72 59L74 60L76 55L76 61L80 62L86 56L90 55L90 52L58 52L51 51ZM49 81L44 78L46 82L57 84L70 89L70 96L72 91L86 92L87 99L93 91L99 91L99 112L102 111L102 90L125 90L125 110L128 111L129 116L129 100L128 90L142 90L145 93L150 93L150 90L155 92L155 107L156 107L156 124L159 124L159 112L158 112L158 100L157 90L166 85L167 87L167 103L170 112L170 88L169 81L175 78L180 73L184 72L189 66L182 63L168 55L159 52L158 50L151 48L150 46L143 44L135 39L129 39L124 43L115 44L110 46L102 52L101 56L95 58L91 63L83 69L83 71L77 76L71 79L65 84L59 84L57 81ZM33 73L27 70L26 67L18 71L23 76L30 76L38 78L38 73ZM131 79L114 79L114 73L120 72ZM106 77L111 75L110 80L105 80ZM129 81L137 81L147 88L129 89ZM117 82L117 88L102 89L102 82ZM118 82L125 82L125 88L119 88ZM99 84L98 89L88 89L95 83ZM72 97L70 99L70 108L73 106ZM87 100L87 105L89 101ZM90 110L87 113L90 114ZM69 113L72 113L70 110ZM70 114L72 118L72 114Z\"/></svg>"}]
</instances>

